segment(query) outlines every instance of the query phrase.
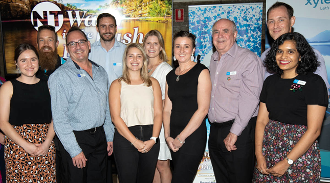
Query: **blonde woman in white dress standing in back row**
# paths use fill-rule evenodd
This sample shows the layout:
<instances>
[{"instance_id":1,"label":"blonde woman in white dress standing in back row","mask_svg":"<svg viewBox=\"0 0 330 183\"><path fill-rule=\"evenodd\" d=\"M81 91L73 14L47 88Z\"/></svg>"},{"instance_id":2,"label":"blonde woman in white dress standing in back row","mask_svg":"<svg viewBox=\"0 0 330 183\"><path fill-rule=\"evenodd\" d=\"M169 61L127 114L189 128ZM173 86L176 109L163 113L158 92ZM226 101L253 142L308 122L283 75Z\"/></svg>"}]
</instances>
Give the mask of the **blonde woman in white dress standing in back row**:
<instances>
[{"instance_id":1,"label":"blonde woman in white dress standing in back row","mask_svg":"<svg viewBox=\"0 0 330 183\"><path fill-rule=\"evenodd\" d=\"M162 99L164 104L166 75L173 68L167 63L168 58L164 48L163 36L159 31L151 30L145 35L142 45L148 58L148 75L158 80L161 86ZM163 125L159 135L159 140L160 150L153 182L169 183L172 179L172 173L169 168L171 153L165 141Z\"/></svg>"}]
</instances>

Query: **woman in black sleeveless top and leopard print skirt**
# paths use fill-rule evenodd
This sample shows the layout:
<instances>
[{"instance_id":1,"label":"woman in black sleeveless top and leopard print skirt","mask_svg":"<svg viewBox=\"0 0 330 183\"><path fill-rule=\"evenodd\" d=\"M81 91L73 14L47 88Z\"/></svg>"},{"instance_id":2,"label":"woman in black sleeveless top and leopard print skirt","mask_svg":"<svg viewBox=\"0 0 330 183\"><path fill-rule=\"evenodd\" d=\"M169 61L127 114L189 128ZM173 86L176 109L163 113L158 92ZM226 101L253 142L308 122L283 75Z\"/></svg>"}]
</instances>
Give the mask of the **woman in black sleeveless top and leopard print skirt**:
<instances>
[{"instance_id":1,"label":"woman in black sleeveless top and leopard print skirt","mask_svg":"<svg viewBox=\"0 0 330 183\"><path fill-rule=\"evenodd\" d=\"M38 58L32 45L16 47L21 75L0 88L7 182L56 182L51 98L47 81L35 76Z\"/></svg>"}]
</instances>

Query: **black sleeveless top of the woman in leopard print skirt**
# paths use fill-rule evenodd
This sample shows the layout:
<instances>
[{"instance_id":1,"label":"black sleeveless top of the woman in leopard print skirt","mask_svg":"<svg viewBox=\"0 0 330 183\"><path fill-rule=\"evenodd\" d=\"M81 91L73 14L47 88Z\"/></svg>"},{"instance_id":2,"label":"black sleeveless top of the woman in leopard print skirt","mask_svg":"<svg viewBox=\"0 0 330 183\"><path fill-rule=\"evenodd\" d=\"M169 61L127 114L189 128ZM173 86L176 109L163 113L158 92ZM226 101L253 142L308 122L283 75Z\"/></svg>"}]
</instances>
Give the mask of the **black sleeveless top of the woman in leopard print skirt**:
<instances>
[{"instance_id":1,"label":"black sleeveless top of the woman in leopard print skirt","mask_svg":"<svg viewBox=\"0 0 330 183\"><path fill-rule=\"evenodd\" d=\"M15 126L51 123L51 97L47 81L40 80L33 85L17 80L10 82L13 95L10 100L9 123Z\"/></svg>"}]
</instances>

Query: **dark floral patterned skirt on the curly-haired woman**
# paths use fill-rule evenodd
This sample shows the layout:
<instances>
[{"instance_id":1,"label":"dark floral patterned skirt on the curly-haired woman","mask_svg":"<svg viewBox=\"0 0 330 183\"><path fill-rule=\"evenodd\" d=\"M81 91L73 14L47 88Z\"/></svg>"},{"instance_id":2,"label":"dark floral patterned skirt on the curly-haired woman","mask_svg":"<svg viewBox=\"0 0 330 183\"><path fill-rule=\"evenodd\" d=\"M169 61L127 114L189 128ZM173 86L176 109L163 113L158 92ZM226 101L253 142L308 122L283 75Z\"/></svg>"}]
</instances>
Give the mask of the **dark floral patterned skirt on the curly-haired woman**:
<instances>
[{"instance_id":1,"label":"dark floral patterned skirt on the curly-haired woman","mask_svg":"<svg viewBox=\"0 0 330 183\"><path fill-rule=\"evenodd\" d=\"M262 154L267 168L287 158L287 154L306 132L307 126L285 124L270 120L263 135ZM312 146L298 158L281 177L261 174L255 168L253 182L320 182L321 156L319 143Z\"/></svg>"}]
</instances>

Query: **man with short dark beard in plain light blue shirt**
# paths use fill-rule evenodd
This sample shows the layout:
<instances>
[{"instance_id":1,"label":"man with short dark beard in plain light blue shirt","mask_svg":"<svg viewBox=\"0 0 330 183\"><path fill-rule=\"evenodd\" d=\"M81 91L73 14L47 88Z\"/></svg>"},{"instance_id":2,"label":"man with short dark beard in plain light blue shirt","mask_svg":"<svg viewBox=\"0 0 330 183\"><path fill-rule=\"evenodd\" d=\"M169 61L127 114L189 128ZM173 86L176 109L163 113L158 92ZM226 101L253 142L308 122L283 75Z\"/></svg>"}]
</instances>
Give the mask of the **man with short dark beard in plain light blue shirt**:
<instances>
[{"instance_id":1,"label":"man with short dark beard in plain light blue shirt","mask_svg":"<svg viewBox=\"0 0 330 183\"><path fill-rule=\"evenodd\" d=\"M122 75L122 61L126 45L115 39L117 21L113 15L99 14L96 22L96 31L100 34L100 40L92 44L89 59L105 69L109 84L111 84ZM112 156L108 156L107 159L106 182L112 183Z\"/></svg>"}]
</instances>

